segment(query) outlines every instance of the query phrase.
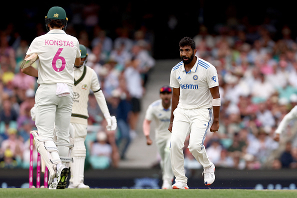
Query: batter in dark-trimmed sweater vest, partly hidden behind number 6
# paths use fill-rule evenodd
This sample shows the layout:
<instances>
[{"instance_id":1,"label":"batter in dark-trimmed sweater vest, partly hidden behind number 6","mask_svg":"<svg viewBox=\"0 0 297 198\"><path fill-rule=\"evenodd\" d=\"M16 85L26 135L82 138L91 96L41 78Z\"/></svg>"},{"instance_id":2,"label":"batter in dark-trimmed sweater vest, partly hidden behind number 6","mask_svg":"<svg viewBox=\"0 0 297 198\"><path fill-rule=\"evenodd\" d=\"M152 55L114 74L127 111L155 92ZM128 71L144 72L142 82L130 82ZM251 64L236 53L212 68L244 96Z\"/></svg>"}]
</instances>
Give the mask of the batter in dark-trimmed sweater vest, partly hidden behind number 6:
<instances>
[{"instance_id":1,"label":"batter in dark-trimmed sweater vest, partly hidden behind number 6","mask_svg":"<svg viewBox=\"0 0 297 198\"><path fill-rule=\"evenodd\" d=\"M82 44L79 45L81 52L81 63L74 66L74 86L73 106L70 122L74 126L74 147L72 150L73 163L71 166L71 177L69 179L68 188L89 188L83 183L83 171L85 160L84 140L87 133L87 101L89 91L92 90L98 102L98 105L107 121L107 130L116 129L115 116L110 116L104 94L100 88L99 80L96 72L86 65L87 51Z\"/></svg>"}]
</instances>

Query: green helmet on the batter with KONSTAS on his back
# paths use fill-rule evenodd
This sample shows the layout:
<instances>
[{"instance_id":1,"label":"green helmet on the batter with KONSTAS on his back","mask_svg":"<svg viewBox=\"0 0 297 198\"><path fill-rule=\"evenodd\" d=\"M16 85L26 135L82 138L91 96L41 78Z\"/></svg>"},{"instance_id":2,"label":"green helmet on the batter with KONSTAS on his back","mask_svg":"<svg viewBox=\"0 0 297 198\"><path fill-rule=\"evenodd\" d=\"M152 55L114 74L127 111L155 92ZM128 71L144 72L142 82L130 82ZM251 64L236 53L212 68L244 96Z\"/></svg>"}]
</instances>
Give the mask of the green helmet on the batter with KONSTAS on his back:
<instances>
[{"instance_id":1,"label":"green helmet on the batter with KONSTAS on his back","mask_svg":"<svg viewBox=\"0 0 297 198\"><path fill-rule=\"evenodd\" d=\"M48 10L47 15L45 16L45 26L47 31L49 31L48 24L52 20L60 20L64 25L62 29L66 29L68 18L66 17L66 12L62 7L54 6Z\"/></svg>"}]
</instances>

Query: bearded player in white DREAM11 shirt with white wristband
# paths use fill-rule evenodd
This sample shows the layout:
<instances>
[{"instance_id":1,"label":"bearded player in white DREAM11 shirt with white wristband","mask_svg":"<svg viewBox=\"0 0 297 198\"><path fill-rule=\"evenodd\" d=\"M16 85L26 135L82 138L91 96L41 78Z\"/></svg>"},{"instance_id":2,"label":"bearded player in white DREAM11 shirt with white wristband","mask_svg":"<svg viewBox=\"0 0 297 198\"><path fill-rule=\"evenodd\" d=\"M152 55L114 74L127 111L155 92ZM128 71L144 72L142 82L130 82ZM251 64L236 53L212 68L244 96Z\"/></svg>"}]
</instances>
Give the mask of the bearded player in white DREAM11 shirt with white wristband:
<instances>
[{"instance_id":1,"label":"bearded player in white DREAM11 shirt with white wristband","mask_svg":"<svg viewBox=\"0 0 297 198\"><path fill-rule=\"evenodd\" d=\"M170 73L173 93L168 130L171 132L170 156L175 175L172 188L188 189L182 150L188 134L189 151L204 168L204 184L209 185L214 181L215 167L208 159L203 142L209 127L212 132L218 130L220 98L216 69L195 55L193 39L182 38L179 41L179 53L182 61ZM213 123L209 126L212 111Z\"/></svg>"}]
</instances>

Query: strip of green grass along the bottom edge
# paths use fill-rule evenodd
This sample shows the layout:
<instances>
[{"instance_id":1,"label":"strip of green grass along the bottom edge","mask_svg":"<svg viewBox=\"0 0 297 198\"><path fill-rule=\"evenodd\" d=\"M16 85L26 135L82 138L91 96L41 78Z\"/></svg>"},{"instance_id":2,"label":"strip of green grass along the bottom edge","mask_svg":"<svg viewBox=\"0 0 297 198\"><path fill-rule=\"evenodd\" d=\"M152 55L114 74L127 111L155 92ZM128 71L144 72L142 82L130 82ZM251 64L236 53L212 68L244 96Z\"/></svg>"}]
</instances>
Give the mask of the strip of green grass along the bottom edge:
<instances>
[{"instance_id":1,"label":"strip of green grass along the bottom edge","mask_svg":"<svg viewBox=\"0 0 297 198\"><path fill-rule=\"evenodd\" d=\"M47 188L0 188L0 197L297 197L297 190L252 190L252 189L57 189Z\"/></svg>"}]
</instances>

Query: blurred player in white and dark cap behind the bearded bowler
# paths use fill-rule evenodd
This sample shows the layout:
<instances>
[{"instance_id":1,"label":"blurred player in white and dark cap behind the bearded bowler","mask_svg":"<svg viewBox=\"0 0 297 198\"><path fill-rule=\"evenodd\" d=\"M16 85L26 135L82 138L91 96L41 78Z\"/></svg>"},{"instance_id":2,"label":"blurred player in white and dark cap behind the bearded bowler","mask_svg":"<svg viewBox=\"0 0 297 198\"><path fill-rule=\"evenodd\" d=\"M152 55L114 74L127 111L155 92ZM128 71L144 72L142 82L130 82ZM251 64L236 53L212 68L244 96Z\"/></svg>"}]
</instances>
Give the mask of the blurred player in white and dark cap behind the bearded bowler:
<instances>
[{"instance_id":1,"label":"blurred player in white and dark cap behind the bearded bowler","mask_svg":"<svg viewBox=\"0 0 297 198\"><path fill-rule=\"evenodd\" d=\"M172 88L169 86L162 86L160 88L160 98L152 102L145 113L142 128L146 137L146 144L152 144L149 137L150 123L155 121L155 141L158 153L161 156L161 169L162 169L162 189L171 189L173 172L170 161L170 138L171 133L168 131L168 122L171 115L171 96Z\"/></svg>"}]
</instances>

